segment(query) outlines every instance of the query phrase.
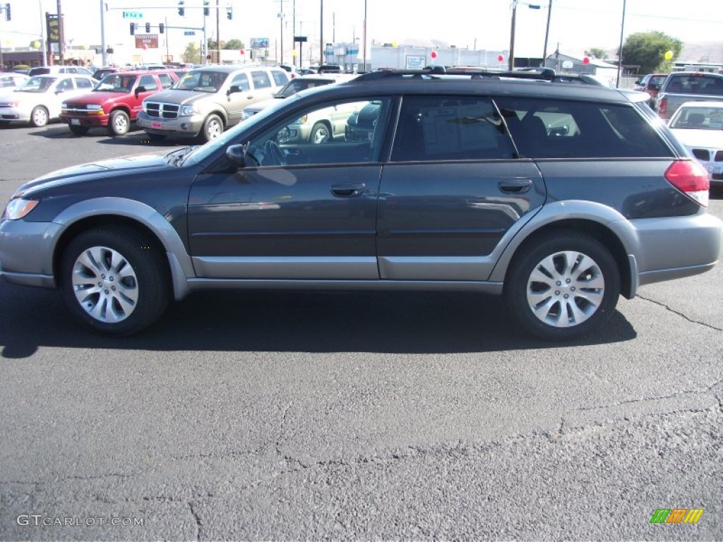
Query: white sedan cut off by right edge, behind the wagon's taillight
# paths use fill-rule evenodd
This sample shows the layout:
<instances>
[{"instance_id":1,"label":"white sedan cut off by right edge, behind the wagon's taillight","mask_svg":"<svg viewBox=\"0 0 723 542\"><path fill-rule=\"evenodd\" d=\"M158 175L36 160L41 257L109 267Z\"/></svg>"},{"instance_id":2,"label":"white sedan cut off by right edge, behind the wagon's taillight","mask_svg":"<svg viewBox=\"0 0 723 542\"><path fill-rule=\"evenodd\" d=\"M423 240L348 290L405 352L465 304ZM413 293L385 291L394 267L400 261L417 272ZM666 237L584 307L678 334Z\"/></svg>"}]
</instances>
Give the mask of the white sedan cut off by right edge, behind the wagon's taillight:
<instances>
[{"instance_id":1,"label":"white sedan cut off by right edge, behind the wagon's taillight","mask_svg":"<svg viewBox=\"0 0 723 542\"><path fill-rule=\"evenodd\" d=\"M711 185L723 185L723 101L686 102L668 126L708 170Z\"/></svg>"}]
</instances>

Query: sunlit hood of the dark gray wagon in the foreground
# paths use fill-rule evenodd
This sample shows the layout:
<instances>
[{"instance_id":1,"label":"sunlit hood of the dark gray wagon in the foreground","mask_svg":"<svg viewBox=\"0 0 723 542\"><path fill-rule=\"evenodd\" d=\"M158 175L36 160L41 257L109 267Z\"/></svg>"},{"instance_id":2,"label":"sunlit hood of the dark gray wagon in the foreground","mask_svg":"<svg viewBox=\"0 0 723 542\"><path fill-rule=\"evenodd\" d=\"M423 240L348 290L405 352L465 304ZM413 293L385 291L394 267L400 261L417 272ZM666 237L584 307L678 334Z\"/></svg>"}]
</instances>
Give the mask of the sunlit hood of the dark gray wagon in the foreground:
<instances>
[{"instance_id":1,"label":"sunlit hood of the dark gray wagon in the foreground","mask_svg":"<svg viewBox=\"0 0 723 542\"><path fill-rule=\"evenodd\" d=\"M97 180L106 175L120 178L124 176L124 173L132 174L138 170L142 170L146 174L154 170L171 168L173 166L169 165L163 158L167 154L168 151L154 152L72 165L69 168L52 171L35 178L33 181L24 184L18 192L27 194L27 192L38 189L55 188L56 186L82 182L88 179Z\"/></svg>"}]
</instances>

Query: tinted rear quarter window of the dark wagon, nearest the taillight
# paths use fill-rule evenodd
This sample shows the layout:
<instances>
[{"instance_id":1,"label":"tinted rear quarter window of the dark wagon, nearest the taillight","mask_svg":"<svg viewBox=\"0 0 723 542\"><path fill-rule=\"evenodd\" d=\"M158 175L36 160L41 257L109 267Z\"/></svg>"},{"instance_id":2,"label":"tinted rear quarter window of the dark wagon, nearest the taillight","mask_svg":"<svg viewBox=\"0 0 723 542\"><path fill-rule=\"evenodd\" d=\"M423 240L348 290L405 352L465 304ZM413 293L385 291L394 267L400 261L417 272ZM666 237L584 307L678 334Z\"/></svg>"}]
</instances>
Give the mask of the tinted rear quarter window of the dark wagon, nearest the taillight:
<instances>
[{"instance_id":1,"label":"tinted rear quarter window of the dark wagon, nearest the taillight","mask_svg":"<svg viewBox=\"0 0 723 542\"><path fill-rule=\"evenodd\" d=\"M646 116L624 104L498 98L527 158L662 158L671 150Z\"/></svg>"}]
</instances>

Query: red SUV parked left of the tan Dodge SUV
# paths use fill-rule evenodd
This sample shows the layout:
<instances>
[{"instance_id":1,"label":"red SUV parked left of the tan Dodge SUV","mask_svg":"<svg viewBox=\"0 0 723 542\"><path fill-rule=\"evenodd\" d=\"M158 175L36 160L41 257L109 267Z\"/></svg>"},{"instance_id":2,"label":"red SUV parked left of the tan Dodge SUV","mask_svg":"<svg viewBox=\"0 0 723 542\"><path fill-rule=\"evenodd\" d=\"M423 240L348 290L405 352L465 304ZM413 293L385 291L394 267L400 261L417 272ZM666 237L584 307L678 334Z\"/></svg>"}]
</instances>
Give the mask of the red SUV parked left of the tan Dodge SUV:
<instances>
[{"instance_id":1,"label":"red SUV parked left of the tan Dodge SUV","mask_svg":"<svg viewBox=\"0 0 723 542\"><path fill-rule=\"evenodd\" d=\"M106 75L90 93L65 100L60 120L78 135L87 134L94 126L105 127L111 136L127 134L143 100L170 88L178 79L170 69Z\"/></svg>"}]
</instances>

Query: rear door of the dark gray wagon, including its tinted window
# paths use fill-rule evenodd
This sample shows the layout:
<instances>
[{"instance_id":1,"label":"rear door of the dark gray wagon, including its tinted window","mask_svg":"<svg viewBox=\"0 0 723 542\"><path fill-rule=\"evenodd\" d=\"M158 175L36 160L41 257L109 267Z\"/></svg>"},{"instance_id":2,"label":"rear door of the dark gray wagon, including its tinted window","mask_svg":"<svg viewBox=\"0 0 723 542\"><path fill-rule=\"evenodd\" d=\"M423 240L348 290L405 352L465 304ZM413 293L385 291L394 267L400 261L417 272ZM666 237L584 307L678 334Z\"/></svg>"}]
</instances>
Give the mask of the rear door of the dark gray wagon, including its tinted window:
<instances>
[{"instance_id":1,"label":"rear door of the dark gray wagon, including its tinted window","mask_svg":"<svg viewBox=\"0 0 723 542\"><path fill-rule=\"evenodd\" d=\"M405 97L380 184L380 278L487 280L502 239L544 197L492 100Z\"/></svg>"}]
</instances>

